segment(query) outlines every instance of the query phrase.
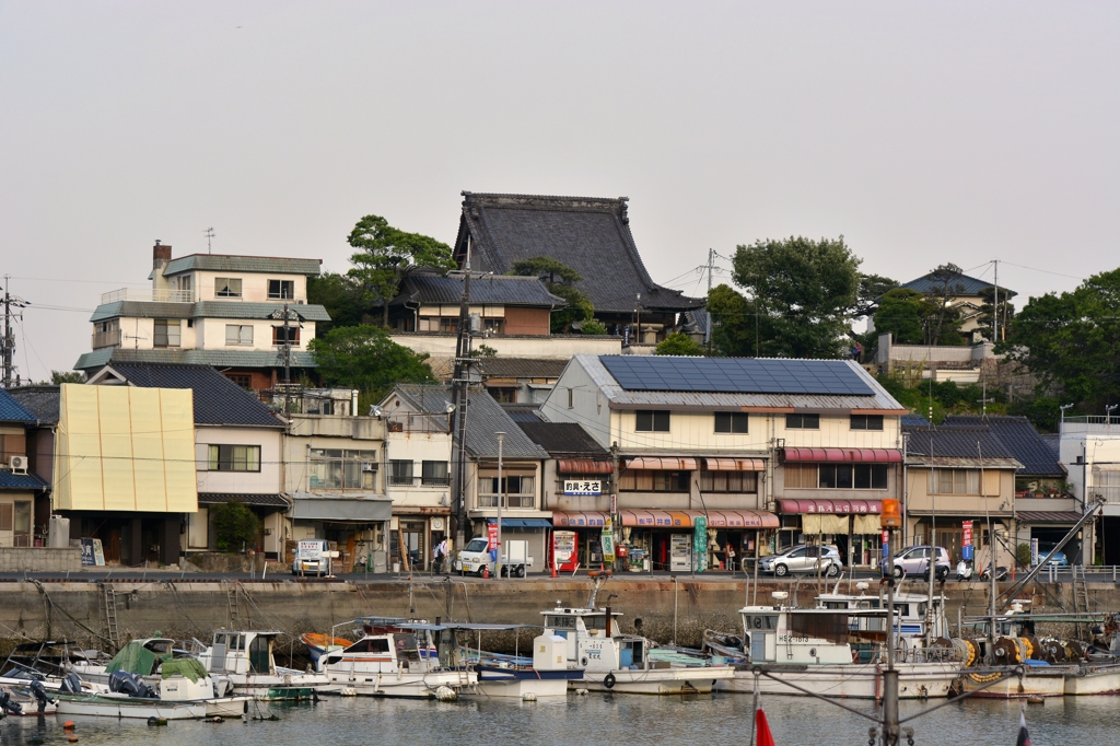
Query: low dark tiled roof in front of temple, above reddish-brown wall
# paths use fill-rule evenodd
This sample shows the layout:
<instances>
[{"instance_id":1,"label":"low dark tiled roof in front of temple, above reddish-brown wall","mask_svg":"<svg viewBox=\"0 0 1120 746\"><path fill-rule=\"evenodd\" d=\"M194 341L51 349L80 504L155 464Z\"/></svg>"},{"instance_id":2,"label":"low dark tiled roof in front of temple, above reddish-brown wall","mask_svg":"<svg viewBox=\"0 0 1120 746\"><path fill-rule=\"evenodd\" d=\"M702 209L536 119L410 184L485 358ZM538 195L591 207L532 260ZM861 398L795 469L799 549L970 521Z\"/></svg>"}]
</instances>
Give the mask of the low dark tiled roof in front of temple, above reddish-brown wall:
<instances>
[{"instance_id":1,"label":"low dark tiled roof in front of temple, above reddish-brown wall","mask_svg":"<svg viewBox=\"0 0 1120 746\"><path fill-rule=\"evenodd\" d=\"M464 278L461 274L441 277L439 274L410 274L401 283L394 304L455 304L463 299ZM544 283L535 277L503 277L491 274L470 278L470 305L532 306L538 308L562 308L568 305L560 296L549 292Z\"/></svg>"}]
</instances>

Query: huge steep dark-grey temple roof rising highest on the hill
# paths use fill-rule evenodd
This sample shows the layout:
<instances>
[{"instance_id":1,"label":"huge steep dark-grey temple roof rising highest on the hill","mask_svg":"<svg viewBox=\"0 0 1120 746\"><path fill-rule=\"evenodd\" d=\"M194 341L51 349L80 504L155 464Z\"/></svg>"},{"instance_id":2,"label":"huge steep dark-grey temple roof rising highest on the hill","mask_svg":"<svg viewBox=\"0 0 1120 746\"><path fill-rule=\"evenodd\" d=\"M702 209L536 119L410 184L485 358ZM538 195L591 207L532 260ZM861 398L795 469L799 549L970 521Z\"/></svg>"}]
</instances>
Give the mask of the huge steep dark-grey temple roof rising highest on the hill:
<instances>
[{"instance_id":1,"label":"huge steep dark-grey temple roof rising highest on the hill","mask_svg":"<svg viewBox=\"0 0 1120 746\"><path fill-rule=\"evenodd\" d=\"M638 295L650 311L703 306L703 299L650 278L631 234L626 202L464 192L455 258L461 267L469 239L474 270L505 274L524 259L556 259L582 277L576 287L597 311L632 314Z\"/></svg>"}]
</instances>

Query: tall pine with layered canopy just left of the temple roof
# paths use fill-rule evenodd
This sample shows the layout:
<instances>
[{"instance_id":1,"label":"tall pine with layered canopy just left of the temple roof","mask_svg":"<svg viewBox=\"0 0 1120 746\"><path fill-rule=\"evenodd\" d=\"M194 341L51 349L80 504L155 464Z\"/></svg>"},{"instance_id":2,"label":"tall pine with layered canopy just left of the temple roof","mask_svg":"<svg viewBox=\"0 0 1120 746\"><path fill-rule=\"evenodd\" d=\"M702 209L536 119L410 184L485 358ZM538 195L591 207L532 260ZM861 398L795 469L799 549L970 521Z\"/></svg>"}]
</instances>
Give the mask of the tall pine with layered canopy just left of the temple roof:
<instances>
[{"instance_id":1,"label":"tall pine with layered canopy just left of the temple roof","mask_svg":"<svg viewBox=\"0 0 1120 746\"><path fill-rule=\"evenodd\" d=\"M358 251L351 257L347 274L381 305L382 326L389 326L389 301L396 297L401 280L419 267L455 269L451 248L420 233L394 229L380 215L366 215L346 242Z\"/></svg>"}]
</instances>

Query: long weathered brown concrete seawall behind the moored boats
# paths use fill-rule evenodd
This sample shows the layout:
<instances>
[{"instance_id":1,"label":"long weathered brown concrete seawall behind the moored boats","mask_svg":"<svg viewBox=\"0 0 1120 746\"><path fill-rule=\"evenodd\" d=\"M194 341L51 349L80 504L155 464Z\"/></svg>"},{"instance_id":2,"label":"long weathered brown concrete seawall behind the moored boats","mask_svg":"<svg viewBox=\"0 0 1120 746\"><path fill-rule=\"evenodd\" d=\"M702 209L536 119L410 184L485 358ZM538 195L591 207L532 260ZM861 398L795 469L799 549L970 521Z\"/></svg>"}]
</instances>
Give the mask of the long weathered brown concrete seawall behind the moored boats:
<instances>
[{"instance_id":1,"label":"long weathered brown concrete seawall behind the moored boats","mask_svg":"<svg viewBox=\"0 0 1120 746\"><path fill-rule=\"evenodd\" d=\"M734 631L737 610L744 605L743 580L612 579L599 593L598 604L625 616L623 628L668 642L673 631L674 598L678 608L678 642L696 645L706 628ZM176 638L208 640L214 630L279 630L329 632L358 616L404 616L435 621L457 619L510 624L541 624L541 612L559 602L582 606L591 582L587 579L530 579L479 581L452 577L424 578L413 582L0 582L0 637L68 638L85 645L109 647L106 589L116 607L118 638L148 636L160 631ZM790 600L812 604L815 584L760 584L757 603L771 600L772 590L790 591ZM847 584L841 587L847 590ZM909 588L921 593L922 586ZM1120 589L1111 582L1089 584L1094 610L1120 610ZM749 591L753 596L754 590ZM874 593L874 586L869 589ZM614 597L612 597L614 595ZM955 627L956 609L983 614L988 587L980 584L946 584L949 618ZM1037 584L1019 597L1033 600L1037 612L1073 609L1068 584ZM638 622L641 619L641 622Z\"/></svg>"}]
</instances>

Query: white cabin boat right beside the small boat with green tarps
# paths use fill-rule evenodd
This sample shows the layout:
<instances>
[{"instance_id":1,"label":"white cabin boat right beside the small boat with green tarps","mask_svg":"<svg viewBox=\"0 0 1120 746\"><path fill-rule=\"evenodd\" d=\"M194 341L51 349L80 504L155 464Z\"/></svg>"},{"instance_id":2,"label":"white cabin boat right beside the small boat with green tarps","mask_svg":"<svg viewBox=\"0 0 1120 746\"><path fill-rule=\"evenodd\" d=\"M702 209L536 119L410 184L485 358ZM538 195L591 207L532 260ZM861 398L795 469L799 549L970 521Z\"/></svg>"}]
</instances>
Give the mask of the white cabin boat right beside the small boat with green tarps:
<instances>
[{"instance_id":1,"label":"white cabin boat right beside the small boat with green tarps","mask_svg":"<svg viewBox=\"0 0 1120 746\"><path fill-rule=\"evenodd\" d=\"M308 700L330 688L324 673L284 669L276 664L273 646L279 632L220 630L209 645L194 641L203 666L216 680L226 680L239 694L261 700Z\"/></svg>"}]
</instances>

